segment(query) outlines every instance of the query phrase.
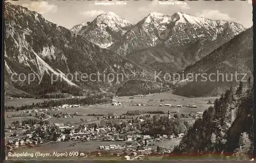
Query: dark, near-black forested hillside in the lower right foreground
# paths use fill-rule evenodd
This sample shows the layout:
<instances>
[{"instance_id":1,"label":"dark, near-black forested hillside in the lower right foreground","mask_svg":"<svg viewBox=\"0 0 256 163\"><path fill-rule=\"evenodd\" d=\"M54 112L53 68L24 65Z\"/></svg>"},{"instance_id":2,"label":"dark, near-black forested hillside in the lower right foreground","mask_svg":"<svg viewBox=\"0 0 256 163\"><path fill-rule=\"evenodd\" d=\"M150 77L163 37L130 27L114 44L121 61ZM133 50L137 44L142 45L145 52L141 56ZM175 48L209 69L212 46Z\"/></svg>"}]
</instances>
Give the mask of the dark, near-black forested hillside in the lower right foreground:
<instances>
[{"instance_id":1,"label":"dark, near-black forested hillside in the lower right foreground","mask_svg":"<svg viewBox=\"0 0 256 163\"><path fill-rule=\"evenodd\" d=\"M253 87L240 82L216 99L182 138L173 154L248 159L253 150ZM234 157L236 156L236 157Z\"/></svg>"}]
</instances>

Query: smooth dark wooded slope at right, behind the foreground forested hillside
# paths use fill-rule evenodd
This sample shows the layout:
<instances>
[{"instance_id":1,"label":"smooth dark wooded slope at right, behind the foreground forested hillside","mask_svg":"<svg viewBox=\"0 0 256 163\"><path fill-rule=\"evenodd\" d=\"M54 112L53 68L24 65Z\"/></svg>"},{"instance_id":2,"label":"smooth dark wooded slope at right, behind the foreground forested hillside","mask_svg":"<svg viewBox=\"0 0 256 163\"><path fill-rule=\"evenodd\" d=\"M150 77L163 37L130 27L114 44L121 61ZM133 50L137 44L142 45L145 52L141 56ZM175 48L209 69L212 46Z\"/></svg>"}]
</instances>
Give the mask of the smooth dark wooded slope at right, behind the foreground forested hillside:
<instances>
[{"instance_id":1,"label":"smooth dark wooded slope at right, behind the foreground forested hillside","mask_svg":"<svg viewBox=\"0 0 256 163\"><path fill-rule=\"evenodd\" d=\"M193 73L194 77L195 74L203 73L207 74L205 77L211 73L216 75L211 76L212 81L207 80L206 82L202 82L201 80L204 79L199 76L198 81L189 82L184 87L178 88L175 94L196 97L220 95L220 92L228 88L231 83L234 85L238 83L235 79L236 72L247 74L244 79L246 80L253 71L252 36L252 28L247 29L195 64L187 66L184 70L185 74ZM219 76L219 82L217 81L217 71L219 74L224 74L224 82L222 75ZM233 82L228 82L231 80L231 75ZM240 75L238 79L240 80L242 77L243 75Z\"/></svg>"}]
</instances>

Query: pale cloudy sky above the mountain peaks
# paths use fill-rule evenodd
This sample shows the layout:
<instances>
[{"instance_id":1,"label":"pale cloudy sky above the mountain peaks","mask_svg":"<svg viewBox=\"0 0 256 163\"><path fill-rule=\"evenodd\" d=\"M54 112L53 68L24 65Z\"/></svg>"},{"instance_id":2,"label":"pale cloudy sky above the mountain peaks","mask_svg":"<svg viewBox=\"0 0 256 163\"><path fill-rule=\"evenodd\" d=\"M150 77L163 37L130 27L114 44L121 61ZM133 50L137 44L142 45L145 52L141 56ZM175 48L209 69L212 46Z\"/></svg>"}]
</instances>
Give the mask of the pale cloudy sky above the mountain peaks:
<instances>
[{"instance_id":1,"label":"pale cloudy sky above the mountain peaks","mask_svg":"<svg viewBox=\"0 0 256 163\"><path fill-rule=\"evenodd\" d=\"M136 24L151 12L173 14L184 12L214 20L234 21L245 28L252 26L251 0L247 1L8 1L36 11L47 20L71 29L97 15L112 11ZM123 4L115 4L116 2ZM169 4L160 4L167 2ZM103 4L99 4L103 3ZM108 5L106 5L108 3Z\"/></svg>"}]
</instances>

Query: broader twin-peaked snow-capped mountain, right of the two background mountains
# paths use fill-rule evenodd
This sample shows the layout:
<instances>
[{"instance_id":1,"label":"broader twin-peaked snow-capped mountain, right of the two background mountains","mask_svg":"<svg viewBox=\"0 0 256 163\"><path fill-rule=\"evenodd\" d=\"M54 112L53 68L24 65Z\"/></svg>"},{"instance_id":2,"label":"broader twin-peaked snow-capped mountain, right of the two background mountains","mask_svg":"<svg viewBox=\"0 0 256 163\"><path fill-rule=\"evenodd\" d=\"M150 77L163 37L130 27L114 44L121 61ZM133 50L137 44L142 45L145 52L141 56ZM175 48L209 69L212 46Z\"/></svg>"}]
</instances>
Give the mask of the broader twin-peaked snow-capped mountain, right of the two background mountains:
<instances>
[{"instance_id":1,"label":"broader twin-peaked snow-capped mountain, right of the two background mountains","mask_svg":"<svg viewBox=\"0 0 256 163\"><path fill-rule=\"evenodd\" d=\"M168 72L195 63L244 31L242 25L185 13L151 13L110 46L134 61ZM154 48L152 48L154 47Z\"/></svg>"}]
</instances>

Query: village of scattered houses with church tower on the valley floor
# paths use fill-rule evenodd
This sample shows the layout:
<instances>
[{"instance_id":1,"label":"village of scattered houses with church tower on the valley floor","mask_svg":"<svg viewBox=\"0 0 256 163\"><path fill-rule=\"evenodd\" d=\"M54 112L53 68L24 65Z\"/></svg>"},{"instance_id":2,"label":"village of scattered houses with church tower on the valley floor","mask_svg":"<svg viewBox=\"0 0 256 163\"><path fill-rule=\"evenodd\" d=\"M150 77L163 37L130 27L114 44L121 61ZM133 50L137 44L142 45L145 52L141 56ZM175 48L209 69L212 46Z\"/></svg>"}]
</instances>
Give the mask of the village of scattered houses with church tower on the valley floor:
<instances>
[{"instance_id":1,"label":"village of scattered houses with church tower on the valley floor","mask_svg":"<svg viewBox=\"0 0 256 163\"><path fill-rule=\"evenodd\" d=\"M140 100L143 96L133 97ZM131 99L131 97L129 98ZM148 100L151 101L152 99ZM135 156L166 154L172 152L175 145L178 145L181 138L186 134L189 125L186 119L196 120L202 118L202 112L180 113L179 108L198 108L196 105L185 104L164 104L164 100L159 103L133 102L127 103L112 99L112 103L102 104L104 107L136 107L136 110L128 110L123 113L91 113L84 114L74 110L72 113L68 109L82 109L83 105L63 104L52 108L34 108L32 110L20 110L20 114L35 119L24 119L22 121L13 121L6 125L6 151L23 151L26 149L39 149L45 145L51 146L58 144L69 144L69 147L76 149L79 144L90 144L90 149L80 152L87 153L84 156L96 157L112 155L122 157L122 159L132 159ZM181 100L182 101L182 100ZM95 104L91 107L99 106ZM88 107L90 107L88 106ZM102 106L102 107L103 107ZM142 110L140 107L157 106L164 107L161 110ZM177 111L169 111L171 108L177 108ZM168 111L167 111L168 110ZM11 114L9 118L15 118L18 115ZM72 118L79 118L79 122L72 122ZM52 123L51 121L70 119L66 123ZM161 126L154 126L154 123L169 123L179 121L177 131L168 131ZM185 124L185 125L184 125ZM184 127L185 126L185 127ZM185 129L184 129L185 128ZM73 142L73 143L72 143ZM172 143L173 142L173 143ZM162 146L170 144L169 146ZM89 148L89 147L88 147ZM95 151L98 151L96 154ZM88 154L88 152L92 154ZM132 155L132 157L131 157Z\"/></svg>"}]
</instances>

